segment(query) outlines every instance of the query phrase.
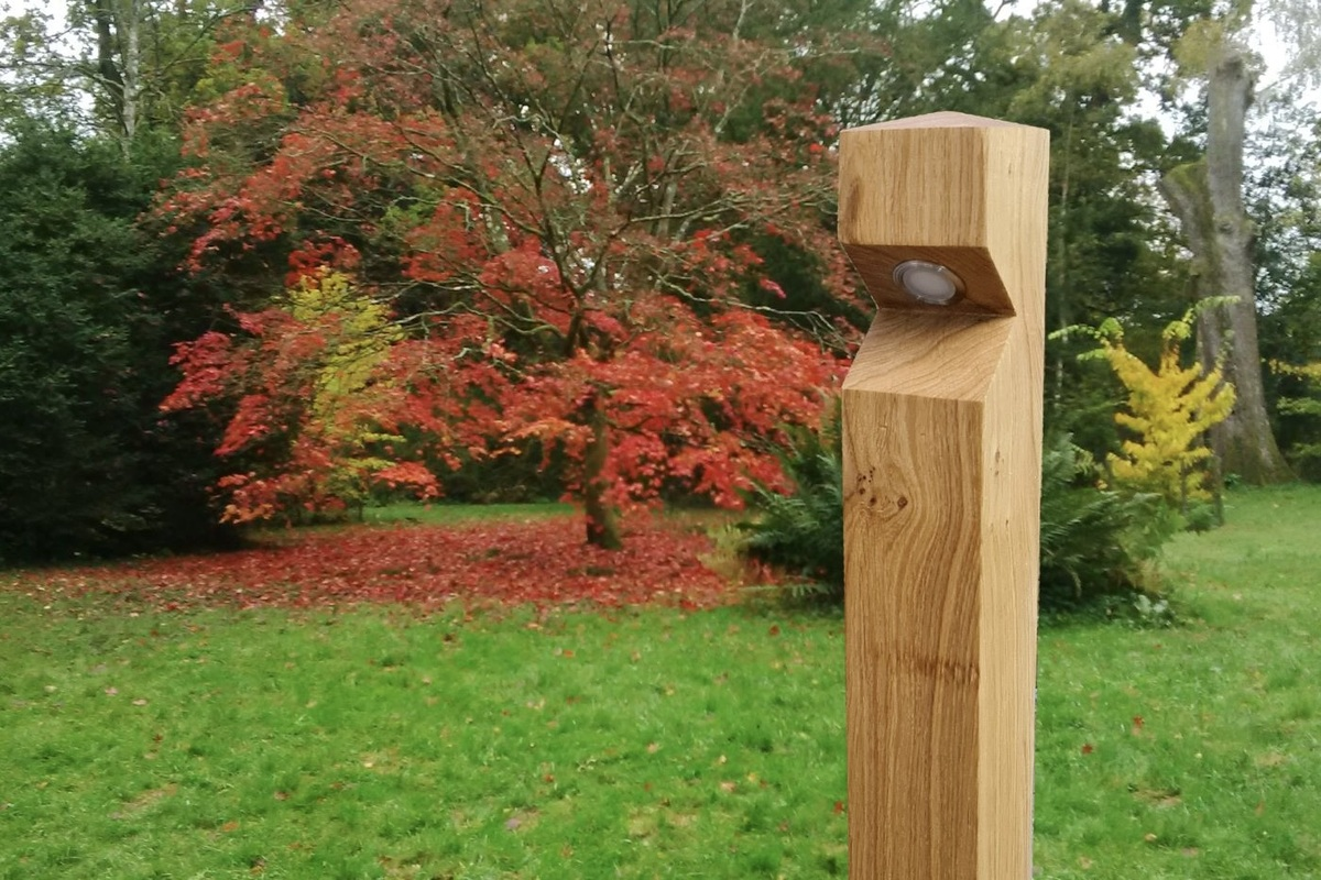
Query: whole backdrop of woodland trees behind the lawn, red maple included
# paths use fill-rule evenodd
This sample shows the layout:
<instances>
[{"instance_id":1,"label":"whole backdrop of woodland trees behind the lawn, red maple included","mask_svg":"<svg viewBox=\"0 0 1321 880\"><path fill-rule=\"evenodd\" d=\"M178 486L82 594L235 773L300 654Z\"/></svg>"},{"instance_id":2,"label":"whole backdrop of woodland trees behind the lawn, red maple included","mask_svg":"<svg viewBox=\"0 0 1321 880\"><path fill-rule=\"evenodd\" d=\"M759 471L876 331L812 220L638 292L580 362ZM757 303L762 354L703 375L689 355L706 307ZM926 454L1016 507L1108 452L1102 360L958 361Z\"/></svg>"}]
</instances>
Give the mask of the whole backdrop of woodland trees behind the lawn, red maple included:
<instances>
[{"instance_id":1,"label":"whole backdrop of woodland trees behind the lawn, red maple included","mask_svg":"<svg viewBox=\"0 0 1321 880\"><path fill-rule=\"evenodd\" d=\"M0 559L215 545L402 496L568 496L613 548L638 507L828 486L871 319L834 241L838 133L937 110L1052 133L1048 488L1091 492L1066 519L1160 496L1190 521L1226 480L1321 478L1309 12L11 15ZM1289 34L1271 82L1264 21Z\"/></svg>"}]
</instances>

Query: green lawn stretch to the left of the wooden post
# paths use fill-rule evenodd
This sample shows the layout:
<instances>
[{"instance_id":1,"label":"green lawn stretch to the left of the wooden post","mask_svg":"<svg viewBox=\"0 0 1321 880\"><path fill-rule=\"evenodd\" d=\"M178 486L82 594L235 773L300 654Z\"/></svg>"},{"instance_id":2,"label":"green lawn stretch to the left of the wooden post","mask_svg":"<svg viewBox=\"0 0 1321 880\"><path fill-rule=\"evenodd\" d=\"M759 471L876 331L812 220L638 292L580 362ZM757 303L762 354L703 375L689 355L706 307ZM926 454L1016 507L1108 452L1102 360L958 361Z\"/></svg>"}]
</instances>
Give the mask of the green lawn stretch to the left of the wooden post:
<instances>
[{"instance_id":1,"label":"green lawn stretch to the left of the wooden post","mask_svg":"<svg viewBox=\"0 0 1321 880\"><path fill-rule=\"evenodd\" d=\"M843 867L838 620L5 606L0 877Z\"/></svg>"}]
</instances>

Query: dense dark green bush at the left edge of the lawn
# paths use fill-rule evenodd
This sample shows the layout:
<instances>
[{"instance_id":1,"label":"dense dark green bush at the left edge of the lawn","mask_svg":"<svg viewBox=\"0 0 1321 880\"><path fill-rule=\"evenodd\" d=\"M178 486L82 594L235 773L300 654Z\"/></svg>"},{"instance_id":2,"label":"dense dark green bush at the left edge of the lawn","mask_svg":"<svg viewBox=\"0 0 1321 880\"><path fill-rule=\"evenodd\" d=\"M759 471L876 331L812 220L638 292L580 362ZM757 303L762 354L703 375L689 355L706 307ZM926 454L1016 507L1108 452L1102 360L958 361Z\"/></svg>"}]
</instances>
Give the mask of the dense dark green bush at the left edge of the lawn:
<instances>
[{"instance_id":1,"label":"dense dark green bush at the left edge of the lawn","mask_svg":"<svg viewBox=\"0 0 1321 880\"><path fill-rule=\"evenodd\" d=\"M41 123L0 144L0 565L230 537L209 427L157 410L177 329L209 319L135 226L161 168Z\"/></svg>"}]
</instances>

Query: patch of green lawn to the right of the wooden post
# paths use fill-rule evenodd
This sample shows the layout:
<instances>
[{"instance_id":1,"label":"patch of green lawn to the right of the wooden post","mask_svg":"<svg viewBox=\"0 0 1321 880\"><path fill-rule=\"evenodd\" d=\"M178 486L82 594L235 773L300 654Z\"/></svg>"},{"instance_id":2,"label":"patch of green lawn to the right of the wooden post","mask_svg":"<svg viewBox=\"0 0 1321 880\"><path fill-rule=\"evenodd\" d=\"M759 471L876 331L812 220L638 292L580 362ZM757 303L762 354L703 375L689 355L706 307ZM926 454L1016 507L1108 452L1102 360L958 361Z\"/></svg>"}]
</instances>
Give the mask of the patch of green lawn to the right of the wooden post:
<instances>
[{"instance_id":1,"label":"patch of green lawn to the right of the wooden post","mask_svg":"<svg viewBox=\"0 0 1321 880\"><path fill-rule=\"evenodd\" d=\"M1042 631L1042 876L1321 876L1321 491L1227 513L1168 550L1180 627Z\"/></svg>"}]
</instances>

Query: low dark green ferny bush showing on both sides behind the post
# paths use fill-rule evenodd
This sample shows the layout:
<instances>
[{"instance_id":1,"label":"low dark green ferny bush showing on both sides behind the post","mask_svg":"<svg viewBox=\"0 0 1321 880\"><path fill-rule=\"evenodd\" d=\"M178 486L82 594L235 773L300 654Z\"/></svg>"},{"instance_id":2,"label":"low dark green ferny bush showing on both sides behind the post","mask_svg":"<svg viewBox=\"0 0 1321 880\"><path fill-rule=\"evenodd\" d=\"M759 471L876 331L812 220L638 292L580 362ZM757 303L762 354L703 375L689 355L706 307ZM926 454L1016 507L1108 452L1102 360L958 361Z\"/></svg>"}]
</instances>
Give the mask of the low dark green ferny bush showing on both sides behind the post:
<instances>
[{"instance_id":1,"label":"low dark green ferny bush showing on both sides behind the post","mask_svg":"<svg viewBox=\"0 0 1321 880\"><path fill-rule=\"evenodd\" d=\"M742 551L793 577L797 595L844 596L844 495L839 416L803 433L781 463L797 491L758 486L757 519L744 522ZM1153 561L1181 522L1157 495L1096 484L1096 467L1067 435L1048 443L1041 475L1041 607L1070 611L1145 595Z\"/></svg>"}]
</instances>

